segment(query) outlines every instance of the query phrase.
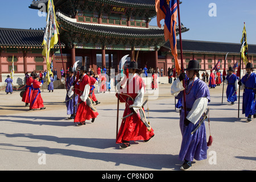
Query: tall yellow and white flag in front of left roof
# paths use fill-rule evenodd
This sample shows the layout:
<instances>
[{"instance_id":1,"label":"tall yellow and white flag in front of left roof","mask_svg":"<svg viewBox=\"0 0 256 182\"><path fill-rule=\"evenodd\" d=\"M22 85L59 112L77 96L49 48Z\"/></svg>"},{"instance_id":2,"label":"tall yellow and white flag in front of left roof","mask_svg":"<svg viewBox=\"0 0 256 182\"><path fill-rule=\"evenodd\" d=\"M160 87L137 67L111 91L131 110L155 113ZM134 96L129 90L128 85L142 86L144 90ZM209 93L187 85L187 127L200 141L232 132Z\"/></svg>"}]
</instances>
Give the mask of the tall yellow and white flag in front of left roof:
<instances>
[{"instance_id":1,"label":"tall yellow and white flag in front of left roof","mask_svg":"<svg viewBox=\"0 0 256 182\"><path fill-rule=\"evenodd\" d=\"M48 1L48 14L46 19L46 31L44 32L44 40L42 46L44 46L42 55L46 57L46 65L47 65L47 82L48 84L51 82L49 79L49 75L52 74L51 71L51 63L49 62L49 53L51 48L58 42L58 34L59 34L59 24L56 20L55 10L53 1Z\"/></svg>"}]
</instances>

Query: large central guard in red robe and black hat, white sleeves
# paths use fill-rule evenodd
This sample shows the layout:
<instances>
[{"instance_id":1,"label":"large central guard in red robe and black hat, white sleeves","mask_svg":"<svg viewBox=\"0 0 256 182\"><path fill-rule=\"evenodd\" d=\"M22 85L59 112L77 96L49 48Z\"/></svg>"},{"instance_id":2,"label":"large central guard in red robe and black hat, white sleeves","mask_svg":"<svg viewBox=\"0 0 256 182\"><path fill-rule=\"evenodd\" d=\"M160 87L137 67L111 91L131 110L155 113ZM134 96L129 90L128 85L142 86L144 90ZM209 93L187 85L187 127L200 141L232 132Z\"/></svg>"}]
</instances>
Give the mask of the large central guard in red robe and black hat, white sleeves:
<instances>
[{"instance_id":1,"label":"large central guard in red robe and black hat, white sleeves","mask_svg":"<svg viewBox=\"0 0 256 182\"><path fill-rule=\"evenodd\" d=\"M119 94L120 102L126 103L123 117L133 113L134 111L139 113L138 109L142 109L144 112L144 109L141 106L143 104L146 85L142 78L136 73L137 71L138 64L135 61L131 61L129 65L129 73L131 73L129 74L130 78L119 83L121 85L125 85L125 82L127 81L125 88L119 90L120 92L116 94L117 97ZM124 82L124 84L122 84L122 82ZM148 130L141 119L141 115L134 113L122 120L116 140L116 143L122 143L119 148L124 149L130 147L130 140L144 140L144 142L147 142L154 137L154 130L152 128Z\"/></svg>"}]
</instances>

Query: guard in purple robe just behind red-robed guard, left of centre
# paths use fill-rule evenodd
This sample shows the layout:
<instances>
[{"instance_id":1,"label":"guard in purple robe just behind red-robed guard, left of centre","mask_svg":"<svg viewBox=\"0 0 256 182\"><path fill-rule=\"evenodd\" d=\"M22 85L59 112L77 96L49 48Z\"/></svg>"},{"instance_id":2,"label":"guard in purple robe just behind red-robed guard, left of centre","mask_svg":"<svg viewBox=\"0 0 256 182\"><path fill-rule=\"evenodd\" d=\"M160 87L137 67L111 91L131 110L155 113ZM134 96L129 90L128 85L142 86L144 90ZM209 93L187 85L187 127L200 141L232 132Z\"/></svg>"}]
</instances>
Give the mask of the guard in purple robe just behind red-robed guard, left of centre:
<instances>
[{"instance_id":1,"label":"guard in purple robe just behind red-robed guard, left of centre","mask_svg":"<svg viewBox=\"0 0 256 182\"><path fill-rule=\"evenodd\" d=\"M71 117L68 119L74 119L74 95L75 94L75 113L77 111L77 101L78 101L78 96L76 93L73 92L73 69L69 68L68 70L68 77L67 77L67 86L68 86L68 93L66 96L66 106L67 106L67 114L71 114Z\"/></svg>"}]
</instances>

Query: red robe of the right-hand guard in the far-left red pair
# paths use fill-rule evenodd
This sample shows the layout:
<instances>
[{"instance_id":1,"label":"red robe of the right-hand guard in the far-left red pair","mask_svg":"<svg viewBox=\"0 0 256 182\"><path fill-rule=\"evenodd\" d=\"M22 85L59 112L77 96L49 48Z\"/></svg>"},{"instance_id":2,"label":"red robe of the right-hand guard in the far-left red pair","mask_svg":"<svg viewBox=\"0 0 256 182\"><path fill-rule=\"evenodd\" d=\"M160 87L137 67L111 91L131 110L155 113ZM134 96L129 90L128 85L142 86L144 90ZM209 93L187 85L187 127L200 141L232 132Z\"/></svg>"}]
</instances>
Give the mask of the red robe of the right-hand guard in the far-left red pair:
<instances>
[{"instance_id":1,"label":"red robe of the right-hand guard in the far-left red pair","mask_svg":"<svg viewBox=\"0 0 256 182\"><path fill-rule=\"evenodd\" d=\"M34 87L34 92L32 94L31 101L30 101L30 109L42 108L42 107L44 107L44 101L40 94L41 93L40 85L42 84L42 82L40 82L38 80L34 80L32 82L32 84Z\"/></svg>"}]
</instances>

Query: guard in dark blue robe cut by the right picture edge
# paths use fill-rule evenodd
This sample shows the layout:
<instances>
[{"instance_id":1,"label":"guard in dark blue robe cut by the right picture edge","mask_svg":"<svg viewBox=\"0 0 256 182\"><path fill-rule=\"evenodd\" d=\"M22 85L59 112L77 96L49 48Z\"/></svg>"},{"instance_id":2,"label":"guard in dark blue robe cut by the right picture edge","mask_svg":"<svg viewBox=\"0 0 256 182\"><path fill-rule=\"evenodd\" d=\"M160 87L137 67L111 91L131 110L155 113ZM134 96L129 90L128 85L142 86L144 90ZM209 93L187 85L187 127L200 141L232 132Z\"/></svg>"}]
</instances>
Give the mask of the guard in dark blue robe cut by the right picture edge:
<instances>
[{"instance_id":1,"label":"guard in dark blue robe cut by the right picture edge","mask_svg":"<svg viewBox=\"0 0 256 182\"><path fill-rule=\"evenodd\" d=\"M256 91L256 74L253 73L253 64L246 64L246 75L242 77L238 84L243 90L242 114L247 117L246 122L251 122L251 115L256 118L255 114L255 91Z\"/></svg>"}]
</instances>

